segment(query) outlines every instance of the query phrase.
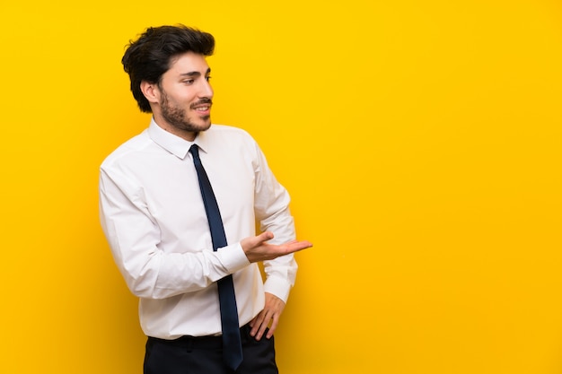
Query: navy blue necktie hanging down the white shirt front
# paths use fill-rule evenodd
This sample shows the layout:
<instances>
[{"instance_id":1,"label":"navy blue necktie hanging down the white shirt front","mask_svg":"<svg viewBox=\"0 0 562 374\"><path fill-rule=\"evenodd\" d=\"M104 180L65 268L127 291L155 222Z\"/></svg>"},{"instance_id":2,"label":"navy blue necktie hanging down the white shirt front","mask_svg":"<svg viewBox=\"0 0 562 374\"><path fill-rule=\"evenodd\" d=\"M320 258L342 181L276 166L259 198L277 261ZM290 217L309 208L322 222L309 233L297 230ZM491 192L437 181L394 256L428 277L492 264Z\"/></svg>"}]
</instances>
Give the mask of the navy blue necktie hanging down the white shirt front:
<instances>
[{"instance_id":1,"label":"navy blue necktie hanging down the white shirt front","mask_svg":"<svg viewBox=\"0 0 562 374\"><path fill-rule=\"evenodd\" d=\"M205 204L206 218L211 230L213 250L226 246L226 235L224 234L223 219L216 204L213 187L206 176L205 169L199 159L198 145L193 144L189 148L193 155L195 170L198 172L199 187L203 204ZM217 282L218 300L221 308L221 325L223 327L223 358L228 367L236 370L242 361L242 348L240 338L240 326L238 324L238 309L236 309L236 298L234 296L233 275L229 274Z\"/></svg>"}]
</instances>

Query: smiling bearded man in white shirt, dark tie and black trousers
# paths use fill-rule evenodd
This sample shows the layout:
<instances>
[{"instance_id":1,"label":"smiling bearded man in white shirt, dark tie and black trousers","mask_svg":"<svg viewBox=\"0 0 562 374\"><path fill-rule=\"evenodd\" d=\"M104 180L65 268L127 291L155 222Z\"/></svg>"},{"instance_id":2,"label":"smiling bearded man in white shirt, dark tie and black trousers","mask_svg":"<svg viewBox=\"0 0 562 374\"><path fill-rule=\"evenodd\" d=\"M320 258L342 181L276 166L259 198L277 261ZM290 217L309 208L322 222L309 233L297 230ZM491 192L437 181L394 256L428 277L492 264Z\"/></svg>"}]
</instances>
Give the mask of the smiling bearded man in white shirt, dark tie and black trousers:
<instances>
[{"instance_id":1,"label":"smiling bearded man in white shirt, dark tie and black trousers","mask_svg":"<svg viewBox=\"0 0 562 374\"><path fill-rule=\"evenodd\" d=\"M140 298L146 374L277 373L273 333L294 284L293 253L312 247L294 239L289 196L250 135L211 125L214 48L206 32L162 26L122 59L139 108L153 117L101 164L101 226ZM219 301L229 282L230 315ZM224 320L236 317L227 334Z\"/></svg>"}]
</instances>

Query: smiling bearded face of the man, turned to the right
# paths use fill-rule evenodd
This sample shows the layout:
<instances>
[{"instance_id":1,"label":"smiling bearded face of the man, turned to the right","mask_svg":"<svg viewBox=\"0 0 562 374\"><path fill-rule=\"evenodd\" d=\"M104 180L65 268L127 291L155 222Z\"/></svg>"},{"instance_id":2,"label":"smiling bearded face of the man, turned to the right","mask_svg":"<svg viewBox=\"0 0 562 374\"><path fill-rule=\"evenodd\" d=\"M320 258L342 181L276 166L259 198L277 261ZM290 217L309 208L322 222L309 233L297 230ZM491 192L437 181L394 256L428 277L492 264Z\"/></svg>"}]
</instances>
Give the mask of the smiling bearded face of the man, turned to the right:
<instances>
[{"instance_id":1,"label":"smiling bearded face of the man, turned to the right","mask_svg":"<svg viewBox=\"0 0 562 374\"><path fill-rule=\"evenodd\" d=\"M204 56L192 52L172 60L157 86L154 120L172 134L192 141L211 126L213 89Z\"/></svg>"}]
</instances>

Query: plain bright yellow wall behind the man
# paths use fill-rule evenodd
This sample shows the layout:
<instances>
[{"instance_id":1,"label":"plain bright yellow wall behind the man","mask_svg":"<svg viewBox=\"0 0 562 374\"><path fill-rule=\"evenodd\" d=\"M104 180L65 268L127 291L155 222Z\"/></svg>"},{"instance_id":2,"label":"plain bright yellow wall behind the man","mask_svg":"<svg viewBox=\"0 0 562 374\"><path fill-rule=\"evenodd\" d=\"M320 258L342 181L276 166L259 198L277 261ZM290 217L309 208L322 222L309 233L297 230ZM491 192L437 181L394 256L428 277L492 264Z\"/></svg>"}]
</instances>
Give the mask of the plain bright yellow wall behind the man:
<instances>
[{"instance_id":1,"label":"plain bright yellow wall behind the man","mask_svg":"<svg viewBox=\"0 0 562 374\"><path fill-rule=\"evenodd\" d=\"M556 0L2 0L0 372L141 372L98 168L149 120L124 46L177 22L215 35L213 119L315 245L284 374L562 372Z\"/></svg>"}]
</instances>

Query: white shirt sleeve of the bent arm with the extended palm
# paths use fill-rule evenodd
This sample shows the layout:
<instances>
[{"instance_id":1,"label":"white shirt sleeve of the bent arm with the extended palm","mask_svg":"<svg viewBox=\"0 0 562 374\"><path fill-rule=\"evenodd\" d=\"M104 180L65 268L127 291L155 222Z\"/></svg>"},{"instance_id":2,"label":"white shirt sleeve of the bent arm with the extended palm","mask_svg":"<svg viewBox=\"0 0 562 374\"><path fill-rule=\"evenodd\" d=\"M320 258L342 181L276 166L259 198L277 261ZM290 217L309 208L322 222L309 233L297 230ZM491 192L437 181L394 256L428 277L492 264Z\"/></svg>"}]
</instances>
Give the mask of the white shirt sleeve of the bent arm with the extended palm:
<instances>
[{"instance_id":1,"label":"white shirt sleeve of the bent arm with the extended palm","mask_svg":"<svg viewBox=\"0 0 562 374\"><path fill-rule=\"evenodd\" d=\"M141 187L117 169L100 174L101 227L127 286L136 296L164 299L199 291L249 265L239 243L221 250L164 253L161 232Z\"/></svg>"}]
</instances>

